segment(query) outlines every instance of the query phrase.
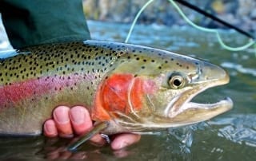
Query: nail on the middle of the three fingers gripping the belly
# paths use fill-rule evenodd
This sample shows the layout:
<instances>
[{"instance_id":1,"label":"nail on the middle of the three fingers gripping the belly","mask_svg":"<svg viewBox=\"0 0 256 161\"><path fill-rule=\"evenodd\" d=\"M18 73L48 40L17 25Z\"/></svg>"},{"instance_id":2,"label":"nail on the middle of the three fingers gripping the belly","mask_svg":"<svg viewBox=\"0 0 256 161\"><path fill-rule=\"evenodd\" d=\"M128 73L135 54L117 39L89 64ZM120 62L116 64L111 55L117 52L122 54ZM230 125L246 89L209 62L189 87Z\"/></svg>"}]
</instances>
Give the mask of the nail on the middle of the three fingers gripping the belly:
<instances>
[{"instance_id":1,"label":"nail on the middle of the three fingers gripping the belly","mask_svg":"<svg viewBox=\"0 0 256 161\"><path fill-rule=\"evenodd\" d=\"M69 110L69 108L57 108L54 111L54 120L56 120L58 124L68 123L70 121Z\"/></svg>"}]
</instances>

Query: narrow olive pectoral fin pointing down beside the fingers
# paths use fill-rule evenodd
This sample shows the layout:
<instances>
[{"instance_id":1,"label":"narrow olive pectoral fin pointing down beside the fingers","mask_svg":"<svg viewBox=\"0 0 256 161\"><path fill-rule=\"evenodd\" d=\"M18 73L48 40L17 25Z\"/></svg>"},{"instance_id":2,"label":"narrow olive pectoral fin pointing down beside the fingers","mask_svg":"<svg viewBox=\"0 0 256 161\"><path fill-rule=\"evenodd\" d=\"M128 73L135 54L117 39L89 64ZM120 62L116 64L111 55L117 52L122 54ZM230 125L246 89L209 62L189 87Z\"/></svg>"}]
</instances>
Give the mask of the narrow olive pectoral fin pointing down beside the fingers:
<instances>
[{"instance_id":1,"label":"narrow olive pectoral fin pointing down beside the fingers","mask_svg":"<svg viewBox=\"0 0 256 161\"><path fill-rule=\"evenodd\" d=\"M94 128L86 133L85 135L82 135L80 139L78 139L76 142L71 143L70 146L67 147L68 151L74 151L77 147L79 147L82 143L85 143L88 139L92 138L94 135L101 132L103 129L105 129L108 126L108 122L101 122L94 126Z\"/></svg>"}]
</instances>

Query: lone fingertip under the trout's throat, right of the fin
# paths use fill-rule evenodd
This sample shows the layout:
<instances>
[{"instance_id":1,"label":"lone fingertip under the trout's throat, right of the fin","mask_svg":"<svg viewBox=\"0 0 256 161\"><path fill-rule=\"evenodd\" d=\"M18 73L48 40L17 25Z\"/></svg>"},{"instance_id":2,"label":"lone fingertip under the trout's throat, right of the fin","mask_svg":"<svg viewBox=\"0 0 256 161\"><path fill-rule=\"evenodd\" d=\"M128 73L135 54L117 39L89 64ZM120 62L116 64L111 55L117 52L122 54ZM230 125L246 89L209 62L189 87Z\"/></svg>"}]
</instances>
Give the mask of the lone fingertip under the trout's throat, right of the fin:
<instances>
[{"instance_id":1,"label":"lone fingertip under the trout's throat, right of the fin","mask_svg":"<svg viewBox=\"0 0 256 161\"><path fill-rule=\"evenodd\" d=\"M120 134L114 138L111 147L113 150L119 150L133 143L137 143L140 139L141 135L138 134Z\"/></svg>"}]
</instances>

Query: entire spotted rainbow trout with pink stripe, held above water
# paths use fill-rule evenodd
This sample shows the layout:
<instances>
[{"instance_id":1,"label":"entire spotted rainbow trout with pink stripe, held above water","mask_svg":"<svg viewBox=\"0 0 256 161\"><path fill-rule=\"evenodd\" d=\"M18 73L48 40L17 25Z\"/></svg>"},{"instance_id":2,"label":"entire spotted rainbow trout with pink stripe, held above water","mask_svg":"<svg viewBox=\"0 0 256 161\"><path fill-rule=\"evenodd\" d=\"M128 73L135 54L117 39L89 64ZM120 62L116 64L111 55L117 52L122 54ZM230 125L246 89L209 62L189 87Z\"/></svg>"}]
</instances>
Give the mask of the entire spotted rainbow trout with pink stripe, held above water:
<instances>
[{"instance_id":1,"label":"entire spotted rainbow trout with pink stripe, held above water","mask_svg":"<svg viewBox=\"0 0 256 161\"><path fill-rule=\"evenodd\" d=\"M98 131L148 132L194 124L232 108L190 100L229 82L216 65L110 41L38 45L0 61L0 133L39 135L58 105L83 105Z\"/></svg>"}]
</instances>

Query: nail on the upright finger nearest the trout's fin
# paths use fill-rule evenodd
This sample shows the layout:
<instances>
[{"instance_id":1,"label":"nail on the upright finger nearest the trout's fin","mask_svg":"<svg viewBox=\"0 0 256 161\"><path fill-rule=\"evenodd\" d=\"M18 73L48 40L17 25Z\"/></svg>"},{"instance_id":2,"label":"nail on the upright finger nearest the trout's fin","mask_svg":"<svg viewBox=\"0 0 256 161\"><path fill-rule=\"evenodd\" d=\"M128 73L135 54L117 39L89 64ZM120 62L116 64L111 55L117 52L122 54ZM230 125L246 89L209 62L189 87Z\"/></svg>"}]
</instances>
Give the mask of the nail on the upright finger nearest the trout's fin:
<instances>
[{"instance_id":1,"label":"nail on the upright finger nearest the trout's fin","mask_svg":"<svg viewBox=\"0 0 256 161\"><path fill-rule=\"evenodd\" d=\"M85 122L85 112L82 108L72 108L70 118L75 124L83 124Z\"/></svg>"}]
</instances>

